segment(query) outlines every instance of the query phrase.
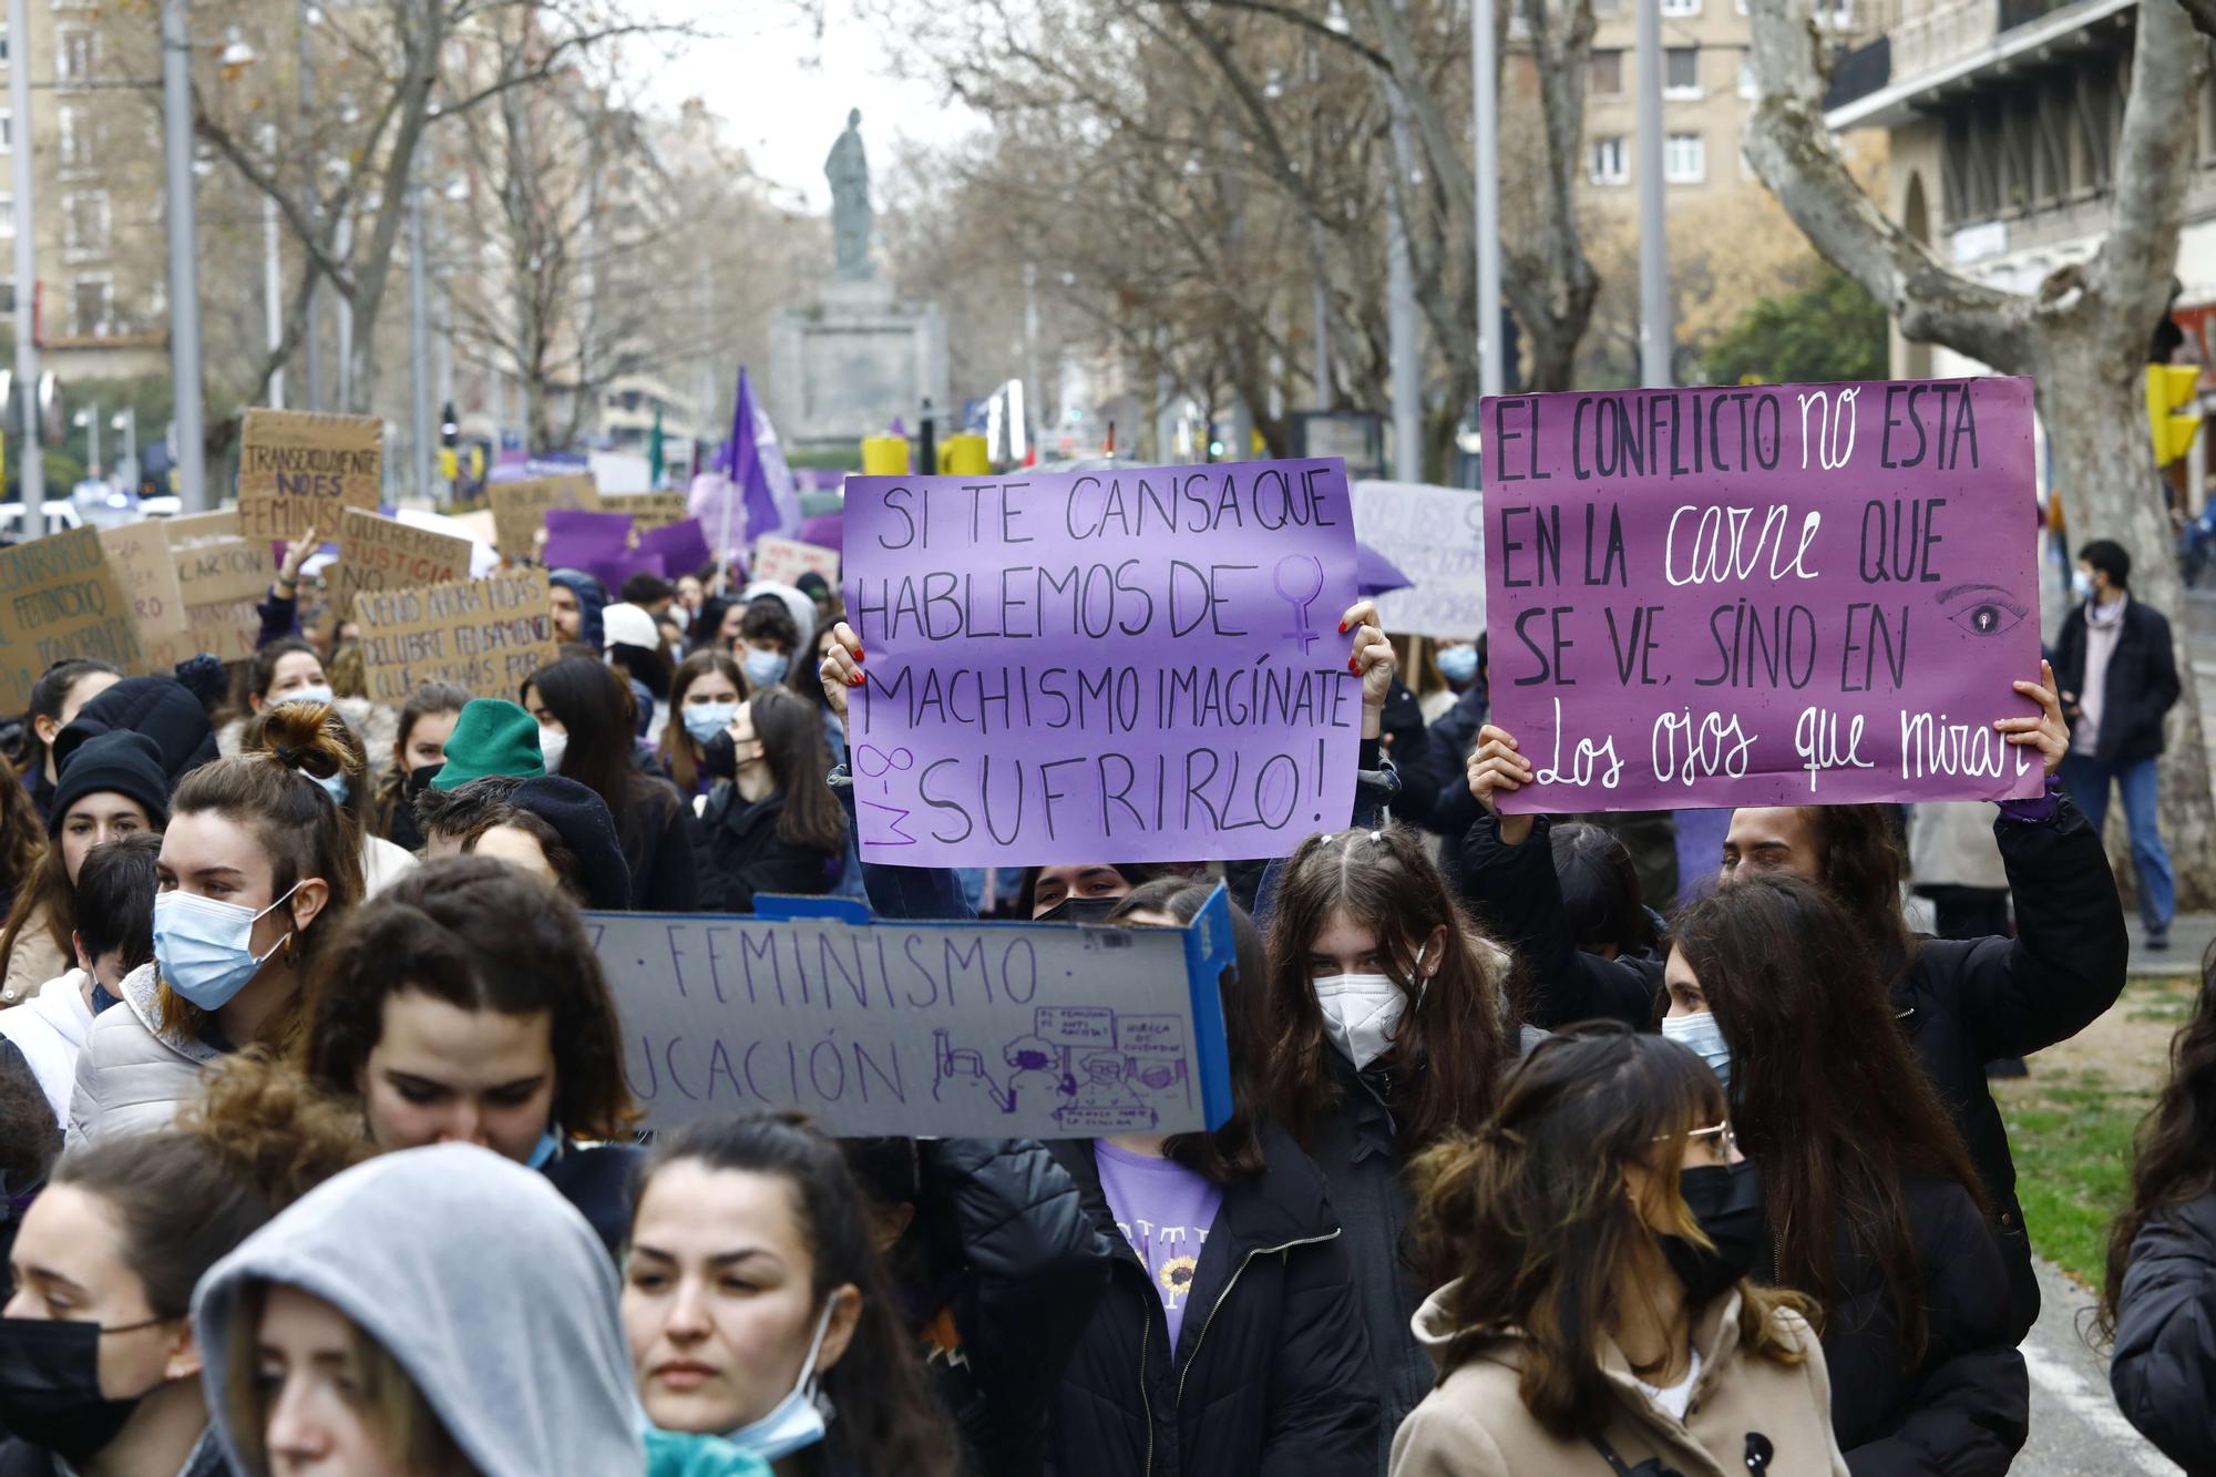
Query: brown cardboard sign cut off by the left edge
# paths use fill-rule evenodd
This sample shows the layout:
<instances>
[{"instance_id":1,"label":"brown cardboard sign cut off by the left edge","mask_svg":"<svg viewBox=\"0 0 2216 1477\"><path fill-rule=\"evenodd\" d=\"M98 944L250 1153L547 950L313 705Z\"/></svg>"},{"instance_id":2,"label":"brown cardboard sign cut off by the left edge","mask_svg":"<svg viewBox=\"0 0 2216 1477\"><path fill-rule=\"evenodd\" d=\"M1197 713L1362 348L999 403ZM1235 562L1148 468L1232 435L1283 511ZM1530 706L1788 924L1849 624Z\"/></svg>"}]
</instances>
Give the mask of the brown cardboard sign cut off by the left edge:
<instances>
[{"instance_id":1,"label":"brown cardboard sign cut off by the left edge","mask_svg":"<svg viewBox=\"0 0 2216 1477\"><path fill-rule=\"evenodd\" d=\"M73 528L0 550L0 712L22 712L31 685L64 656L142 670L137 617L100 557L100 532Z\"/></svg>"}]
</instances>

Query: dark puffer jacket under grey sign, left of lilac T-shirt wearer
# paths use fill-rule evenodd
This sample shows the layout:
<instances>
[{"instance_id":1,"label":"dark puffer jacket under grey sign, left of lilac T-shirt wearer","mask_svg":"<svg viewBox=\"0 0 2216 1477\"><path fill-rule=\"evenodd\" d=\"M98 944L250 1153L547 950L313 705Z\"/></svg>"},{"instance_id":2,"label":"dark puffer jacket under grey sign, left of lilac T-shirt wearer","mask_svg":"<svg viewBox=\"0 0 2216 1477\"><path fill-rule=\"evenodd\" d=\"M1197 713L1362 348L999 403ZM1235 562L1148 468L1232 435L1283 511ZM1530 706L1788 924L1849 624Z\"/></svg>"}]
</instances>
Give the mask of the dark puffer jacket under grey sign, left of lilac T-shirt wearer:
<instances>
[{"instance_id":1,"label":"dark puffer jacket under grey sign, left of lilac T-shirt wearer","mask_svg":"<svg viewBox=\"0 0 2216 1477\"><path fill-rule=\"evenodd\" d=\"M913 1269L922 1282L900 1288L909 1324L968 1448L964 1470L1037 1477L1055 1391L1108 1286L1115 1244L1046 1144L942 1138L915 1151L929 1251Z\"/></svg>"}]
</instances>

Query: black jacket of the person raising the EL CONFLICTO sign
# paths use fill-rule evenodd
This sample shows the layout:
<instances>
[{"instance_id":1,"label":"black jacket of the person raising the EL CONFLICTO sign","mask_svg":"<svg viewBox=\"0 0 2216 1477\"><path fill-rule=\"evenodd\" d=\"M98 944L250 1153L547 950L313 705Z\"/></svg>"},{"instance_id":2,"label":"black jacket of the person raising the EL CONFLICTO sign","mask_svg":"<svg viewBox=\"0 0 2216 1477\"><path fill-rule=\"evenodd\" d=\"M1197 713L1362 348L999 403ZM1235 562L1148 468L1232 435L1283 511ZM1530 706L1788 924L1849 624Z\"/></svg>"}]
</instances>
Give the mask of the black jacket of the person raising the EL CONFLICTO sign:
<instances>
[{"instance_id":1,"label":"black jacket of the person raising the EL CONFLICTO sign","mask_svg":"<svg viewBox=\"0 0 2216 1477\"><path fill-rule=\"evenodd\" d=\"M2039 1280L1986 1062L2030 1056L2099 1020L2123 994L2130 940L2107 852L2070 796L2056 794L2045 821L2003 816L1992 834L2008 865L2017 936L1923 938L1915 960L1890 958L1879 967L1892 978L1901 1029L1983 1180L2008 1264L2010 1342L2017 1342L2039 1317ZM1531 1025L1553 1029L1593 1016L1653 1025L1660 962L1604 960L1569 947L1545 818L1525 845L1507 847L1498 821L1480 816L1463 843L1463 898L1529 965Z\"/></svg>"}]
</instances>

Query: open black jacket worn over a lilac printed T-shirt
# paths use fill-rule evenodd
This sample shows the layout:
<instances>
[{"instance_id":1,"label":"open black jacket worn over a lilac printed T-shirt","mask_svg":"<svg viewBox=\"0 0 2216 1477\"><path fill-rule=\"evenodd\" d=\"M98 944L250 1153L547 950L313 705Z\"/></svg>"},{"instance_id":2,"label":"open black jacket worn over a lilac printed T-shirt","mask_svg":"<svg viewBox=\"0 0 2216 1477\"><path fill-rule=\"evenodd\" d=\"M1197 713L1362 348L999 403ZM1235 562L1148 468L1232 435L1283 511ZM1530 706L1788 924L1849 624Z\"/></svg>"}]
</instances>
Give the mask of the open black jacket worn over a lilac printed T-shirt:
<instances>
[{"instance_id":1,"label":"open black jacket worn over a lilac printed T-shirt","mask_svg":"<svg viewBox=\"0 0 2216 1477\"><path fill-rule=\"evenodd\" d=\"M1354 1264L1323 1175L1285 1133L1265 1129L1270 1167L1223 1186L1177 1351L1092 1142L1050 1149L1117 1251L1055 1399L1055 1477L1343 1477L1376 1464Z\"/></svg>"}]
</instances>

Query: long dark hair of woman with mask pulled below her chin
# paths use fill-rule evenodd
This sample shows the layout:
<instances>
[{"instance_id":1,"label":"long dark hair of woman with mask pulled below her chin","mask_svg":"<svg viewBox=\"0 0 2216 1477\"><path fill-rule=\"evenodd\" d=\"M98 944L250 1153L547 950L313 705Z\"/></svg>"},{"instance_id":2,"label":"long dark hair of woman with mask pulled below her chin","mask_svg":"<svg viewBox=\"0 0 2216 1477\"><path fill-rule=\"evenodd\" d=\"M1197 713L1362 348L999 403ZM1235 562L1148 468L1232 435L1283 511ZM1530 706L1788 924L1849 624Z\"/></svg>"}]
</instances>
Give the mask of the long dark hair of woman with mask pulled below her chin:
<instances>
[{"instance_id":1,"label":"long dark hair of woman with mask pulled below her chin","mask_svg":"<svg viewBox=\"0 0 2216 1477\"><path fill-rule=\"evenodd\" d=\"M838 1408L833 1446L871 1473L904 1477L953 1477L953 1437L924 1388L900 1324L871 1240L869 1200L855 1184L838 1140L809 1124L802 1113L749 1113L696 1122L667 1135L632 1184L632 1206L645 1202L647 1186L669 1164L698 1162L707 1169L776 1175L793 1191L800 1233L813 1262L813 1300L844 1284L862 1288L862 1315L822 1388Z\"/></svg>"}]
</instances>

